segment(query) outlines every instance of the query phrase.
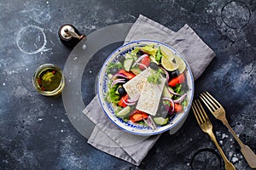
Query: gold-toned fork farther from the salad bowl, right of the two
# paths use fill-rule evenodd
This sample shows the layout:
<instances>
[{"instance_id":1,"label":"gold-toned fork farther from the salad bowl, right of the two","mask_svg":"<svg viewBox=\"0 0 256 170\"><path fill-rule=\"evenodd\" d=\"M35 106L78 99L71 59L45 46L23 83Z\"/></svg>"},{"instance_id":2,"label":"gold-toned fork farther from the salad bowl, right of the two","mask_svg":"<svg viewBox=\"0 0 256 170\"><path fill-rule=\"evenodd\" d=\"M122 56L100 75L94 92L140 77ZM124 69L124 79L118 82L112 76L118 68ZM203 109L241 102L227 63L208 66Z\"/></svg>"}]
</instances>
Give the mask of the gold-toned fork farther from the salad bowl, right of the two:
<instances>
[{"instance_id":1,"label":"gold-toned fork farther from the salad bowl, right of the two","mask_svg":"<svg viewBox=\"0 0 256 170\"><path fill-rule=\"evenodd\" d=\"M204 104L207 105L207 108L209 109L209 111L212 112L212 115L215 116L221 122L223 122L224 125L229 128L230 132L232 133L232 135L240 145L241 153L246 159L248 165L252 168L256 168L256 155L253 153L253 150L251 150L249 146L241 142L241 139L238 138L234 130L230 127L230 124L226 119L223 106L220 105L218 101L214 99L212 95L209 94L208 92L202 93L200 98L204 102Z\"/></svg>"}]
</instances>

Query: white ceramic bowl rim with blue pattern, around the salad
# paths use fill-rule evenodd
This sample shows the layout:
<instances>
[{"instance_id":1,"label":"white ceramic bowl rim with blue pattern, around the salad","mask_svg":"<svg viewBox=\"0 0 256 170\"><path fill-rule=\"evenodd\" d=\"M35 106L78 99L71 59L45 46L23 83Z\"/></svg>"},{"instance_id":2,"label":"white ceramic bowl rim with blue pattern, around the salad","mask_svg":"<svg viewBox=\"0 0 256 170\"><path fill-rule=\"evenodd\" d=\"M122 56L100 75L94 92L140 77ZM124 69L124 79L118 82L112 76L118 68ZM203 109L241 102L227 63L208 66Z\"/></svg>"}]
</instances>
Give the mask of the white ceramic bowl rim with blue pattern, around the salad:
<instances>
[{"instance_id":1,"label":"white ceramic bowl rim with blue pattern, around the salad","mask_svg":"<svg viewBox=\"0 0 256 170\"><path fill-rule=\"evenodd\" d=\"M172 121L168 122L165 126L158 126L155 129L152 129L151 127L148 127L148 126L144 126L142 124L130 122L130 121L125 122L122 118L115 116L113 105L111 103L108 103L108 101L106 101L105 99L105 95L108 92L108 83L110 81L108 74L106 73L108 65L111 62L114 62L114 63L117 62L119 55L124 55L126 53L129 53L135 47L145 46L146 44L153 44L154 46L165 46L166 48L170 49L172 53L175 54L177 57L180 57L181 59L183 59L187 67L187 71L185 71L186 82L188 85L187 107L185 107L181 113L175 114L175 116L172 117ZM166 132L167 130L170 130L170 133L174 133L178 130L178 128L182 126L183 122L185 121L185 119L189 114L189 109L191 107L193 96L194 96L194 79L193 79L192 71L189 68L188 62L183 58L183 55L177 52L177 50L175 50L174 48L170 47L169 45L163 42L141 40L141 41L126 43L123 46L115 49L113 53L108 56L108 59L106 59L106 61L102 65L101 71L99 72L98 80L96 84L96 92L100 101L100 105L102 106L102 110L105 112L108 118L116 126L123 129L124 131L128 133L137 134L137 135L154 135L154 134Z\"/></svg>"}]
</instances>

